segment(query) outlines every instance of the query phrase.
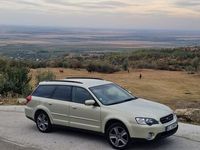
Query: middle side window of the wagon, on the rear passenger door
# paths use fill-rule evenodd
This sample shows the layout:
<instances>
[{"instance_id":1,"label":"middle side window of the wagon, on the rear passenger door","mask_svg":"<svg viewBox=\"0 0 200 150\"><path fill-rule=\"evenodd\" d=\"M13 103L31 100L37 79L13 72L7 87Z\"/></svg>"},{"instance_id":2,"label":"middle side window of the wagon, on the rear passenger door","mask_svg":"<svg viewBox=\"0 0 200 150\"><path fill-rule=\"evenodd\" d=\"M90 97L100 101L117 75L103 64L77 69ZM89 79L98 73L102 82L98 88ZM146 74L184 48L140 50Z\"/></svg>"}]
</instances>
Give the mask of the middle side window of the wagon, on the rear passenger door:
<instances>
[{"instance_id":1,"label":"middle side window of the wagon, on the rear passenger door","mask_svg":"<svg viewBox=\"0 0 200 150\"><path fill-rule=\"evenodd\" d=\"M63 101L71 101L71 86L56 86L56 89L52 95L52 99L58 99Z\"/></svg>"}]
</instances>

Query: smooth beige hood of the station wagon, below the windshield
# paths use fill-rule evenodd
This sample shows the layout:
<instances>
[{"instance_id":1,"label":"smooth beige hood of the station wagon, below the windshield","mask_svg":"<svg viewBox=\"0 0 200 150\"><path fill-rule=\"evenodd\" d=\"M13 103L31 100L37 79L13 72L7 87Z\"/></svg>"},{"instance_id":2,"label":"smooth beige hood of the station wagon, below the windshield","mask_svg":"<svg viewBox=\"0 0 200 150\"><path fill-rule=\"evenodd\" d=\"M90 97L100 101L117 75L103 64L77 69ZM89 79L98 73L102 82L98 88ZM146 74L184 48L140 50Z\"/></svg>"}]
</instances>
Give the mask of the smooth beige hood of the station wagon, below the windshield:
<instances>
[{"instance_id":1,"label":"smooth beige hood of the station wagon, below the windshield","mask_svg":"<svg viewBox=\"0 0 200 150\"><path fill-rule=\"evenodd\" d=\"M152 102L142 98L136 100L111 105L112 109L120 112L131 113L134 117L148 117L160 119L167 116L173 111L168 107L160 103Z\"/></svg>"}]
</instances>

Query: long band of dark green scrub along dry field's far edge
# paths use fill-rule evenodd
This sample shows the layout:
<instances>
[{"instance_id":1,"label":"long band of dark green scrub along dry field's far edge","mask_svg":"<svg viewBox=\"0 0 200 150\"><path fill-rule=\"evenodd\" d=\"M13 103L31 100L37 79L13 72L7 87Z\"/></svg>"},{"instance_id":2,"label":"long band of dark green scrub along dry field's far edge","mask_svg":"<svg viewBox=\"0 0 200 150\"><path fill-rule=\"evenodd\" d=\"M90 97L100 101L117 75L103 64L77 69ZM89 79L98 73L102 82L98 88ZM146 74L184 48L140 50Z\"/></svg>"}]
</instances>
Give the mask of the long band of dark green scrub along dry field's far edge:
<instances>
[{"instance_id":1,"label":"long band of dark green scrub along dry field's far edge","mask_svg":"<svg viewBox=\"0 0 200 150\"><path fill-rule=\"evenodd\" d=\"M29 68L62 67L87 69L89 72L113 73L129 69L200 71L200 47L175 49L140 49L132 52L66 54L59 59L21 61Z\"/></svg>"}]
</instances>

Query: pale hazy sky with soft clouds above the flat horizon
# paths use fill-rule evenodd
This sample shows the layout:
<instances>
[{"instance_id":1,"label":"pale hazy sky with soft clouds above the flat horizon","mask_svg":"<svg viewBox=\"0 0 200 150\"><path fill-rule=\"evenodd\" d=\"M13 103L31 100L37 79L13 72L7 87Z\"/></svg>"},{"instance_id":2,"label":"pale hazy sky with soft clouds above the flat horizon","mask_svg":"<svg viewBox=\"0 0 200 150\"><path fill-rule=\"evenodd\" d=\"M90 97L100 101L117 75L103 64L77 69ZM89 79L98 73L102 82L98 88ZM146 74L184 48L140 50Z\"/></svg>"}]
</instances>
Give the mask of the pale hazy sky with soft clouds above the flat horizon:
<instances>
[{"instance_id":1,"label":"pale hazy sky with soft clouds above the flat horizon","mask_svg":"<svg viewBox=\"0 0 200 150\"><path fill-rule=\"evenodd\" d=\"M0 0L0 25L200 30L200 0Z\"/></svg>"}]
</instances>

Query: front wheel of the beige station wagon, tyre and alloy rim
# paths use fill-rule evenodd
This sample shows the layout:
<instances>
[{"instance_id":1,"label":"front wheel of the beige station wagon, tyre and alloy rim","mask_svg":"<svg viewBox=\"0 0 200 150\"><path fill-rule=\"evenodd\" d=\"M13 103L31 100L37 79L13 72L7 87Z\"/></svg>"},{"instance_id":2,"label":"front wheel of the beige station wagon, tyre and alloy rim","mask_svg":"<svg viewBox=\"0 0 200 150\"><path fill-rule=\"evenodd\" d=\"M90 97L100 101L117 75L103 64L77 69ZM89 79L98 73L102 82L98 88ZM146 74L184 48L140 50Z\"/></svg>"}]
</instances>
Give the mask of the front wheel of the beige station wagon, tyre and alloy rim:
<instances>
[{"instance_id":1,"label":"front wheel of the beige station wagon, tyre and alloy rim","mask_svg":"<svg viewBox=\"0 0 200 150\"><path fill-rule=\"evenodd\" d=\"M130 145L129 132L122 123L111 124L106 130L106 138L115 149L124 150Z\"/></svg>"}]
</instances>

